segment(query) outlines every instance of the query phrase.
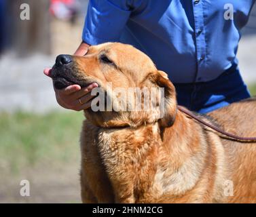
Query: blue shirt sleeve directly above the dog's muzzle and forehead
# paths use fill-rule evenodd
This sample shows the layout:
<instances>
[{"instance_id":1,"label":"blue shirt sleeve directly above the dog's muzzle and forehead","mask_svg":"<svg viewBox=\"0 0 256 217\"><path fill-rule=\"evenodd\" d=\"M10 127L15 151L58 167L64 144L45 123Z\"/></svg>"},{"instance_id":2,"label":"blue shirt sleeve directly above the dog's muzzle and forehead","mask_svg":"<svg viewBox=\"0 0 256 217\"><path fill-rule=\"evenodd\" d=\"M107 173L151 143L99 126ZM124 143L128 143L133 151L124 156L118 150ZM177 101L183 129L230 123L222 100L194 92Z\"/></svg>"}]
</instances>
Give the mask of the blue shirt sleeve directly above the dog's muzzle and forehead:
<instances>
[{"instance_id":1,"label":"blue shirt sleeve directly above the dog's muzzle and forehead","mask_svg":"<svg viewBox=\"0 0 256 217\"><path fill-rule=\"evenodd\" d=\"M128 0L90 0L82 39L90 45L119 41L131 7Z\"/></svg>"}]
</instances>

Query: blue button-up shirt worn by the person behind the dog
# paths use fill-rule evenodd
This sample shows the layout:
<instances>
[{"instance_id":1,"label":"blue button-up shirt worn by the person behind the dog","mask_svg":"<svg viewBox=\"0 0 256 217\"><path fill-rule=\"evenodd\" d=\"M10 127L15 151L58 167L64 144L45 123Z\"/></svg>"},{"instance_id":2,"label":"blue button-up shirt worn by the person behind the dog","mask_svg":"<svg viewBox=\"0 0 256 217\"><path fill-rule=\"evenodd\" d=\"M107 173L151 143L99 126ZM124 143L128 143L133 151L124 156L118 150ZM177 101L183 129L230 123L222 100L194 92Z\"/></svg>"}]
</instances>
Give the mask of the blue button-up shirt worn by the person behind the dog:
<instances>
[{"instance_id":1,"label":"blue button-up shirt worn by the person behind the dog","mask_svg":"<svg viewBox=\"0 0 256 217\"><path fill-rule=\"evenodd\" d=\"M134 45L174 83L211 81L238 64L240 30L253 3L255 0L90 0L83 41Z\"/></svg>"}]
</instances>

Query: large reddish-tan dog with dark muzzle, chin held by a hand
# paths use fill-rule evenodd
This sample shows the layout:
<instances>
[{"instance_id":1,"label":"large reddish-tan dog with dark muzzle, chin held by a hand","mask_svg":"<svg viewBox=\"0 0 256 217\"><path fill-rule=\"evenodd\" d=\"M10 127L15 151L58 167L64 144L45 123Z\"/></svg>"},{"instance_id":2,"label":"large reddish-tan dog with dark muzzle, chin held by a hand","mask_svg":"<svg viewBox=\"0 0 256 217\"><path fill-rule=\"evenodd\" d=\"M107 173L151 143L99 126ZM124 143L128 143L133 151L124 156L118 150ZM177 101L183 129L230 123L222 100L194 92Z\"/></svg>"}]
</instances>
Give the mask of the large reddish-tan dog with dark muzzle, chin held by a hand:
<instances>
[{"instance_id":1,"label":"large reddish-tan dog with dark muzzle, chin held by a hand","mask_svg":"<svg viewBox=\"0 0 256 217\"><path fill-rule=\"evenodd\" d=\"M105 43L88 54L59 56L56 88L98 83L113 88L164 87L164 112L84 111L81 197L85 203L256 202L256 143L230 140L177 110L165 73L130 45ZM133 104L126 98L124 104ZM158 114L159 115L159 114ZM202 117L239 136L256 136L256 100Z\"/></svg>"}]
</instances>

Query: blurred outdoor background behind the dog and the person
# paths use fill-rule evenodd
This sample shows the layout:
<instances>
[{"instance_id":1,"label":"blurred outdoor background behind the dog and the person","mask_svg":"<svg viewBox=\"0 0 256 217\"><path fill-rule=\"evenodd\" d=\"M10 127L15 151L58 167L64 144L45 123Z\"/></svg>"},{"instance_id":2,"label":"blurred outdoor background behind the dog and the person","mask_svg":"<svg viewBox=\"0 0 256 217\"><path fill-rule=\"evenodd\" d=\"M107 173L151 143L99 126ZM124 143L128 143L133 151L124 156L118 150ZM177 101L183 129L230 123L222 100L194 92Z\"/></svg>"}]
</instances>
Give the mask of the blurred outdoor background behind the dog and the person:
<instances>
[{"instance_id":1,"label":"blurred outdoor background behind the dog and the person","mask_svg":"<svg viewBox=\"0 0 256 217\"><path fill-rule=\"evenodd\" d=\"M20 20L28 3L31 20ZM0 203L80 203L83 113L61 109L43 68L81 43L87 0L0 0ZM256 5L238 49L256 94ZM29 180L30 197L20 196Z\"/></svg>"}]
</instances>

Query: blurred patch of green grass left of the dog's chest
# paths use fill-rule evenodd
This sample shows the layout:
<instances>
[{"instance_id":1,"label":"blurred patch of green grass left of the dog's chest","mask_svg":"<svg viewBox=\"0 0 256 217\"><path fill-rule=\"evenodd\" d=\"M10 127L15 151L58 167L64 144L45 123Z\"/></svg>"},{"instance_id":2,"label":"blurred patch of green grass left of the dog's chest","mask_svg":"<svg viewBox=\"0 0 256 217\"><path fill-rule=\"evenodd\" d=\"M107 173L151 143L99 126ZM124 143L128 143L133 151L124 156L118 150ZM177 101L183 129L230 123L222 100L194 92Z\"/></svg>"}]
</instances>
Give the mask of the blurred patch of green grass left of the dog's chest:
<instances>
[{"instance_id":1,"label":"blurred patch of green grass left of the dog's chest","mask_svg":"<svg viewBox=\"0 0 256 217\"><path fill-rule=\"evenodd\" d=\"M79 159L82 113L0 114L0 166L9 172L36 163Z\"/></svg>"}]
</instances>

